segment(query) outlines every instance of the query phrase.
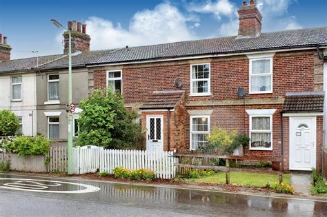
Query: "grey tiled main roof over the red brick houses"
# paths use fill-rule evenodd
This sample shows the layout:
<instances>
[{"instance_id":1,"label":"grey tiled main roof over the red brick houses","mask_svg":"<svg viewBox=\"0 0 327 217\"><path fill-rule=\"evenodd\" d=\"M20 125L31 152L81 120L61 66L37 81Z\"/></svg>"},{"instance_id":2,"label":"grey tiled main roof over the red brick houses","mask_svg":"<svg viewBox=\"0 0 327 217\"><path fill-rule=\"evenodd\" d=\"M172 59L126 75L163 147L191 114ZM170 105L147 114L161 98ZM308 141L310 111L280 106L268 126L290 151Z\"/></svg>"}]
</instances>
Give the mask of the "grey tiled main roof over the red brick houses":
<instances>
[{"instance_id":1,"label":"grey tiled main roof over the red brick houses","mask_svg":"<svg viewBox=\"0 0 327 217\"><path fill-rule=\"evenodd\" d=\"M181 41L115 50L90 63L118 63L150 59L169 59L204 54L224 54L327 44L327 27L261 33L258 37L225 37Z\"/></svg>"}]
</instances>

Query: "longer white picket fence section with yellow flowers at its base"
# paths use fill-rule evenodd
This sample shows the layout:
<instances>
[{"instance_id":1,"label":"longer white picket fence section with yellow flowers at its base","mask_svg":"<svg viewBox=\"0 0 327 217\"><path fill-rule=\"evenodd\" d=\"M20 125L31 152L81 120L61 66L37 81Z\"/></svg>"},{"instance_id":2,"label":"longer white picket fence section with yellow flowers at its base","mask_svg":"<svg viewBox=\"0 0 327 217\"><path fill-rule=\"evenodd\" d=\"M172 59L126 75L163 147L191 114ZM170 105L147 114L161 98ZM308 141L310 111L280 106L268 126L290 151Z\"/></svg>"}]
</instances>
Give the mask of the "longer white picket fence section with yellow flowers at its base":
<instances>
[{"instance_id":1,"label":"longer white picket fence section with yellow flowers at its base","mask_svg":"<svg viewBox=\"0 0 327 217\"><path fill-rule=\"evenodd\" d=\"M100 172L113 173L115 167L149 169L157 178L175 178L175 158L172 152L104 149L100 152Z\"/></svg>"}]
</instances>

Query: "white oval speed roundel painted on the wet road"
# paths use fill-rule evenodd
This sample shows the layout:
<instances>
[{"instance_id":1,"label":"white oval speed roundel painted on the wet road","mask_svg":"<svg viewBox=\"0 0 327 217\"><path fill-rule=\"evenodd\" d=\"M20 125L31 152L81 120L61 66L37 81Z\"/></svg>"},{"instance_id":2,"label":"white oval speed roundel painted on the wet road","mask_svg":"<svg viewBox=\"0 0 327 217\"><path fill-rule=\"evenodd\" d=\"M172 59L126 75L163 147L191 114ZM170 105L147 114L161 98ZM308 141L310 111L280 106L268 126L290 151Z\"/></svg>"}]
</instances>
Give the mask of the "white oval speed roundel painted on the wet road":
<instances>
[{"instance_id":1,"label":"white oval speed roundel painted on the wet road","mask_svg":"<svg viewBox=\"0 0 327 217\"><path fill-rule=\"evenodd\" d=\"M57 180L39 180L39 179L25 179L25 178L0 178L0 180L16 180L15 182L4 183L0 185L0 188L24 191L24 192L82 194L82 193L98 192L100 190L99 187L95 187L92 185L85 185L81 183L68 183L68 182L62 182ZM39 183L39 182L43 182L43 183ZM54 183L54 184L48 185L48 184L44 184L44 182ZM75 185L77 187L85 187L85 189L72 190L72 191L45 190L48 189L49 187L60 187L62 186L62 184Z\"/></svg>"}]
</instances>

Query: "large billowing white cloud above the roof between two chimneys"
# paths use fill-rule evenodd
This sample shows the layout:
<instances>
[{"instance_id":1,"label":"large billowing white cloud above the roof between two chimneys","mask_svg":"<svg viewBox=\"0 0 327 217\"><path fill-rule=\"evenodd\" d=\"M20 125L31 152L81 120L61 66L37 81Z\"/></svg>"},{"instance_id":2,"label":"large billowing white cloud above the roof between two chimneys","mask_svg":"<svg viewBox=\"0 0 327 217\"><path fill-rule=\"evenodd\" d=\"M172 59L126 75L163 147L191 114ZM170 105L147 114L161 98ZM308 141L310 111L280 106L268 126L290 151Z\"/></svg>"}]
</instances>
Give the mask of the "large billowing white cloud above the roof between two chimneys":
<instances>
[{"instance_id":1,"label":"large billowing white cloud above the roof between two chimneys","mask_svg":"<svg viewBox=\"0 0 327 217\"><path fill-rule=\"evenodd\" d=\"M196 39L188 22L195 22L192 26L199 27L198 21L170 3L161 3L153 10L134 14L128 28L99 17L90 17L86 23L92 38L91 50L99 50Z\"/></svg>"}]
</instances>

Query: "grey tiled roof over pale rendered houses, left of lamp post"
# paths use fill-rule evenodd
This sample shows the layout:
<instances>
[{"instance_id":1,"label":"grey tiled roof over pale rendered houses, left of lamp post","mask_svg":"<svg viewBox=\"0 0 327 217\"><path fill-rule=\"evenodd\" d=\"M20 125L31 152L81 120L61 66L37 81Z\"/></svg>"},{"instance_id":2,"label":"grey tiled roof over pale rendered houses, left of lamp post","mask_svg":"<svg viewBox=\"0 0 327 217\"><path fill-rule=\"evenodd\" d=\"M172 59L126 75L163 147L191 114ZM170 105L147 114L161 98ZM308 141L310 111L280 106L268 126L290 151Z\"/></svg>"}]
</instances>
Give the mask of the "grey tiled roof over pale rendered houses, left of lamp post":
<instances>
[{"instance_id":1,"label":"grey tiled roof over pale rendered houses, left of lamp post","mask_svg":"<svg viewBox=\"0 0 327 217\"><path fill-rule=\"evenodd\" d=\"M39 65L48 63L50 61L61 58L63 54L50 55L50 56L39 56ZM0 73L1 72L19 72L28 71L37 67L37 57L31 57L26 59L14 59L11 61L0 62Z\"/></svg>"}]
</instances>

